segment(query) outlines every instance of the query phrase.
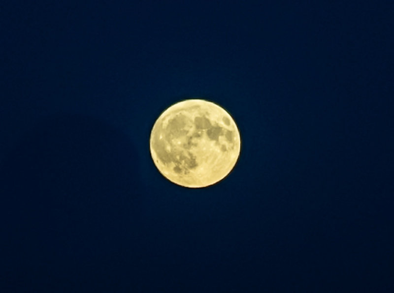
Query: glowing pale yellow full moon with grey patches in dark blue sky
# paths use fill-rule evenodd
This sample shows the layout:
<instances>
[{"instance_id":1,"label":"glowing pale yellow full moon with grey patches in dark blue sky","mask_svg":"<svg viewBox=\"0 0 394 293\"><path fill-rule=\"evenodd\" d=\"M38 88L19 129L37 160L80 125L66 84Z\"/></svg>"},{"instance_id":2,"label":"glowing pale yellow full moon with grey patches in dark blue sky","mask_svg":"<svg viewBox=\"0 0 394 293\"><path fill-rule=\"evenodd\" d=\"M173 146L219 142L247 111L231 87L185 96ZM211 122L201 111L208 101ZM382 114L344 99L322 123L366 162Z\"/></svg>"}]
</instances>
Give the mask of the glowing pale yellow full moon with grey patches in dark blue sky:
<instances>
[{"instance_id":1,"label":"glowing pale yellow full moon with grey patches in dark blue sky","mask_svg":"<svg viewBox=\"0 0 394 293\"><path fill-rule=\"evenodd\" d=\"M206 187L229 175L240 150L234 119L222 107L202 99L167 108L150 136L150 151L159 172L190 188Z\"/></svg>"}]
</instances>

